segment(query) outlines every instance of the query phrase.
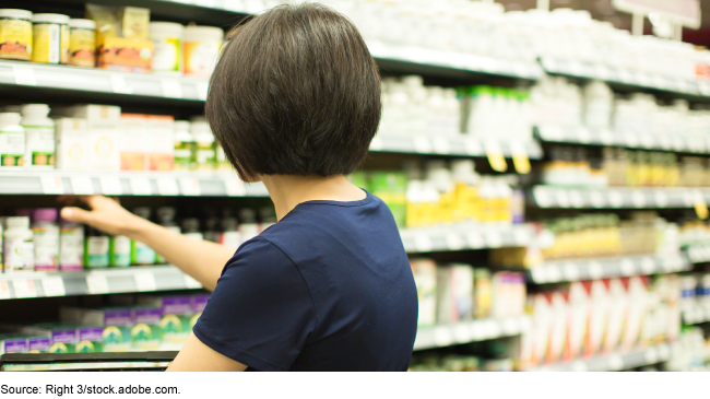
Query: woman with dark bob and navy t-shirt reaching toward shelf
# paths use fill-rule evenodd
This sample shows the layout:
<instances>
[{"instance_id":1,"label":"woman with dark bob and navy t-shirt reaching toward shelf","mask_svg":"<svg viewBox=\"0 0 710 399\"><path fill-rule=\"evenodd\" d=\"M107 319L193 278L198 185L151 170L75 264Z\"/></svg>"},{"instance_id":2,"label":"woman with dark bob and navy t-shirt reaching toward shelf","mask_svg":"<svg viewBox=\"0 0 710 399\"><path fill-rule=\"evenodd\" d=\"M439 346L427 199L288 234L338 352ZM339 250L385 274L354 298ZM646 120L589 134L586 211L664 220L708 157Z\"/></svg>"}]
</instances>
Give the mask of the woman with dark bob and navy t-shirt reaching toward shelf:
<instances>
[{"instance_id":1,"label":"woman with dark bob and navy t-shirt reaching toward shelf","mask_svg":"<svg viewBox=\"0 0 710 399\"><path fill-rule=\"evenodd\" d=\"M62 218L153 247L214 290L168 371L405 371L417 297L392 214L345 175L380 119L377 66L353 24L281 5L235 30L205 110L279 222L233 250L193 242L105 197Z\"/></svg>"}]
</instances>

